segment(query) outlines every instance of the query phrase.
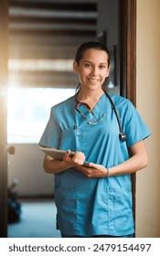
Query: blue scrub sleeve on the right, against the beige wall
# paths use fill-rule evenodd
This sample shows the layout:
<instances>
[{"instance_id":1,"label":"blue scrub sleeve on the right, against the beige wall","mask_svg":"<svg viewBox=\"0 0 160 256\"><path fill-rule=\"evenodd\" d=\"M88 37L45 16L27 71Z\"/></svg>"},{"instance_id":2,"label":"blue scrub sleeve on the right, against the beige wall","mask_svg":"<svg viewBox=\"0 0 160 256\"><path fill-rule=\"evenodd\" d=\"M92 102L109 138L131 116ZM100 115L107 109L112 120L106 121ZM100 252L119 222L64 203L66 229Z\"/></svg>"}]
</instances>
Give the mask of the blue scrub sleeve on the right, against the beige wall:
<instances>
[{"instance_id":1,"label":"blue scrub sleeve on the right, against the beige wall","mask_svg":"<svg viewBox=\"0 0 160 256\"><path fill-rule=\"evenodd\" d=\"M127 136L128 147L144 140L149 135L151 135L150 130L145 125L140 114L134 108L132 102L130 102L130 107L128 108L128 112L125 118L125 133Z\"/></svg>"}]
</instances>

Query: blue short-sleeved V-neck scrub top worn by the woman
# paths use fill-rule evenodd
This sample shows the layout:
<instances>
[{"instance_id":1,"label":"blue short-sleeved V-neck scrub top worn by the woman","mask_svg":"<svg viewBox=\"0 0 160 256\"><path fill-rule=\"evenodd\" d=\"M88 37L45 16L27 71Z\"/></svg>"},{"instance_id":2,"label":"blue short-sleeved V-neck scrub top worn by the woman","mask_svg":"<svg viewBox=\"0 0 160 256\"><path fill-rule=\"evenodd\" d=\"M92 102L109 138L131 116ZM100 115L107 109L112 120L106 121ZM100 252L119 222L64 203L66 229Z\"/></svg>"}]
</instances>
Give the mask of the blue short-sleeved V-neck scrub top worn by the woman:
<instances>
[{"instance_id":1,"label":"blue short-sleeved V-neck scrub top worn by the woman","mask_svg":"<svg viewBox=\"0 0 160 256\"><path fill-rule=\"evenodd\" d=\"M119 165L129 158L128 147L150 135L131 101L110 93L121 120L127 142L119 139L119 126L112 104L105 94L91 112L80 105L84 118L75 110L75 96L52 107L40 145L80 151L86 161L105 167ZM131 176L88 178L69 168L55 175L54 196L57 224L66 235L124 236L134 232Z\"/></svg>"}]
</instances>

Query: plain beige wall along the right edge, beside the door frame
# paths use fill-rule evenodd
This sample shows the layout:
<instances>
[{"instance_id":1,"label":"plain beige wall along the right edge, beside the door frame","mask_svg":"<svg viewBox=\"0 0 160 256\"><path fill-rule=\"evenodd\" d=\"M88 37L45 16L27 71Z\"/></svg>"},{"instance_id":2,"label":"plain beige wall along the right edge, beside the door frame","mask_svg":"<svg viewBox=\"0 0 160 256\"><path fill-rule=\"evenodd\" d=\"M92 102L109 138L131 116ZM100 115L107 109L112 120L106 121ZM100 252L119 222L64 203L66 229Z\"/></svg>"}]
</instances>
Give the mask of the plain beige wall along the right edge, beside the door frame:
<instances>
[{"instance_id":1,"label":"plain beige wall along the right edge, beside the door frame","mask_svg":"<svg viewBox=\"0 0 160 256\"><path fill-rule=\"evenodd\" d=\"M137 0L137 109L152 131L149 165L137 173L136 236L160 237L160 1Z\"/></svg>"}]
</instances>

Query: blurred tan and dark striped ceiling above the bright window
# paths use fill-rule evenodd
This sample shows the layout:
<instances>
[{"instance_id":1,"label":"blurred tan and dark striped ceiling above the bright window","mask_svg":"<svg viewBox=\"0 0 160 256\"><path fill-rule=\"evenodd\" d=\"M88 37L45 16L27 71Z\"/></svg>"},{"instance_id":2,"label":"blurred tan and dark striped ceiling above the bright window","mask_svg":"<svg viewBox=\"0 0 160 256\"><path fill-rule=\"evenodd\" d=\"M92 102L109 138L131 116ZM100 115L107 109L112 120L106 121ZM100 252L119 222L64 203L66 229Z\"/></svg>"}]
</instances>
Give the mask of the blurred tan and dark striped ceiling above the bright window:
<instances>
[{"instance_id":1,"label":"blurred tan and dark striped ceiling above the bright window","mask_svg":"<svg viewBox=\"0 0 160 256\"><path fill-rule=\"evenodd\" d=\"M95 0L10 0L10 83L75 87L72 59L80 43L95 39L96 26Z\"/></svg>"}]
</instances>

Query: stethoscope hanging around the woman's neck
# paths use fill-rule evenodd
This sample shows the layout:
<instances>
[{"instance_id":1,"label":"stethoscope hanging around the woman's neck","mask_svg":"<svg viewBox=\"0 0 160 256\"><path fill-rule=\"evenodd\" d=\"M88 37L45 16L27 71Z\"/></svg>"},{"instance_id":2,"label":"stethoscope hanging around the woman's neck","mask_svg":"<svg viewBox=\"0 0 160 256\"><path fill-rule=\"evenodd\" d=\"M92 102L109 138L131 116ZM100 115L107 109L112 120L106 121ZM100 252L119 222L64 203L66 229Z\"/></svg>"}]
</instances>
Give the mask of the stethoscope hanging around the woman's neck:
<instances>
[{"instance_id":1,"label":"stethoscope hanging around the woman's neck","mask_svg":"<svg viewBox=\"0 0 160 256\"><path fill-rule=\"evenodd\" d=\"M114 103L113 103L113 101L112 101L112 98L111 98L110 94L109 94L107 91L105 91L105 90L103 90L103 91L104 91L105 95L107 96L107 98L109 99L109 101L110 101L111 104L112 104L113 112L115 113L115 116L116 116L116 119L117 119L117 123L118 123L118 126L119 126L119 131L120 131L120 133L119 133L119 138L120 138L120 140L121 140L122 142L125 142L125 141L126 141L126 133L123 132L123 129L122 129L122 126L121 126L121 122L120 122L120 118L119 118L119 116L118 116L116 107L115 107L115 105L114 105ZM77 94L76 94L76 95L77 95ZM97 116L95 115L94 112L91 111L91 108L90 108L90 106L89 106L87 103L78 101L78 99L77 99L76 96L75 96L75 98L76 98L76 101L77 101L77 104L76 104L76 106L75 106L75 110L76 110L77 112L79 112L84 118L88 119L88 117L87 117L85 114L83 114L83 113L80 111L80 109L79 109L80 105L83 105L83 106L85 106L85 107L88 109L88 111L91 112L92 115L95 117L96 121L95 121L95 122L92 122L92 121L89 119L88 124L97 124L97 123L100 123L100 122L103 120L103 118L104 118L104 116L105 116L104 113L101 115L101 119L98 120Z\"/></svg>"}]
</instances>

